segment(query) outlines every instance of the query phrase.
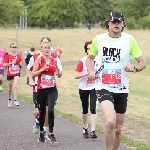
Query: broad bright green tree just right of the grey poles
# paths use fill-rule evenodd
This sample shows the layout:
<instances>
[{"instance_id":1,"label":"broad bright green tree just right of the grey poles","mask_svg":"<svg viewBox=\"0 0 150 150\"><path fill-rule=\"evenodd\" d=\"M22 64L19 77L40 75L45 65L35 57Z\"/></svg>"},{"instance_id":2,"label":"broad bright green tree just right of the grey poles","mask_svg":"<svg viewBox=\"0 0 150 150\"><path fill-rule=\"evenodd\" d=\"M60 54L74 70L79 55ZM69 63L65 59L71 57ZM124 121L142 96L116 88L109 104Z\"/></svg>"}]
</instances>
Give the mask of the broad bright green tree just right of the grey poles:
<instances>
[{"instance_id":1,"label":"broad bright green tree just right of the grey poles","mask_svg":"<svg viewBox=\"0 0 150 150\"><path fill-rule=\"evenodd\" d=\"M45 22L48 29L52 29L55 22L58 22L60 28L64 29L68 20L75 22L84 19L84 7L80 0L32 0L31 5L29 17Z\"/></svg>"}]
</instances>

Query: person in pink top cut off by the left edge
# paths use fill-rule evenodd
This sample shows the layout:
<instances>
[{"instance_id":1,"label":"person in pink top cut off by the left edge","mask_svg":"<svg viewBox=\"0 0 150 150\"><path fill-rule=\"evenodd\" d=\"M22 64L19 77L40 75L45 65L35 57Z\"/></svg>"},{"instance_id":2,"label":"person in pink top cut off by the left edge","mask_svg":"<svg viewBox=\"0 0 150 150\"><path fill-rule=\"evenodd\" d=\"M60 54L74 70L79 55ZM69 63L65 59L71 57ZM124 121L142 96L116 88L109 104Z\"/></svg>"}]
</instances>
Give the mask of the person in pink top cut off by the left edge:
<instances>
[{"instance_id":1,"label":"person in pink top cut off by the left edge","mask_svg":"<svg viewBox=\"0 0 150 150\"><path fill-rule=\"evenodd\" d=\"M3 61L5 58L6 52L4 50L0 50L0 92L3 92L3 77L4 77L4 66Z\"/></svg>"}]
</instances>

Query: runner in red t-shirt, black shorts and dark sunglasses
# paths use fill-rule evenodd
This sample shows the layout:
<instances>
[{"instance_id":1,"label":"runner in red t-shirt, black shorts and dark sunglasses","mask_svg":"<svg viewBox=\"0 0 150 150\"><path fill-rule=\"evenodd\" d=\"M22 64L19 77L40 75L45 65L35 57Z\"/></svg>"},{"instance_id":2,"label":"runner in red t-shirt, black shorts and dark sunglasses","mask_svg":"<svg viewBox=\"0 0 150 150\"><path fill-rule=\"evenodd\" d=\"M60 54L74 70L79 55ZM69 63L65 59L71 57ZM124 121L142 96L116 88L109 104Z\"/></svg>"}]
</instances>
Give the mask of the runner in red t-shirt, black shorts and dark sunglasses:
<instances>
[{"instance_id":1,"label":"runner in red t-shirt, black shorts and dark sunglasses","mask_svg":"<svg viewBox=\"0 0 150 150\"><path fill-rule=\"evenodd\" d=\"M14 87L14 105L19 106L18 99L18 82L20 77L20 66L22 66L22 59L17 53L17 45L10 44L11 53L4 58L4 67L7 67L7 80L8 80L8 107L12 107L11 92Z\"/></svg>"}]
</instances>

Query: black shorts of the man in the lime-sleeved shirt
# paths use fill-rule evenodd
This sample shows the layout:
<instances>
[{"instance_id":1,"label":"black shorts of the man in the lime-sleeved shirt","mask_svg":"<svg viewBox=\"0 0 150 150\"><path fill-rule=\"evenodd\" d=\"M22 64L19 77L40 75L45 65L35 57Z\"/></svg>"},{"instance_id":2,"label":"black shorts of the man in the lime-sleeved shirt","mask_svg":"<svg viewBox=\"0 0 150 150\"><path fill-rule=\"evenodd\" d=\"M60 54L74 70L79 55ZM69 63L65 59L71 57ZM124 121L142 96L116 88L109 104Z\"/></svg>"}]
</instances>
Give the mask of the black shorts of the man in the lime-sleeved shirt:
<instances>
[{"instance_id":1,"label":"black shorts of the man in the lime-sleeved shirt","mask_svg":"<svg viewBox=\"0 0 150 150\"><path fill-rule=\"evenodd\" d=\"M109 100L114 104L116 113L124 114L127 109L128 93L112 93L108 90L96 90L99 102Z\"/></svg>"}]
</instances>

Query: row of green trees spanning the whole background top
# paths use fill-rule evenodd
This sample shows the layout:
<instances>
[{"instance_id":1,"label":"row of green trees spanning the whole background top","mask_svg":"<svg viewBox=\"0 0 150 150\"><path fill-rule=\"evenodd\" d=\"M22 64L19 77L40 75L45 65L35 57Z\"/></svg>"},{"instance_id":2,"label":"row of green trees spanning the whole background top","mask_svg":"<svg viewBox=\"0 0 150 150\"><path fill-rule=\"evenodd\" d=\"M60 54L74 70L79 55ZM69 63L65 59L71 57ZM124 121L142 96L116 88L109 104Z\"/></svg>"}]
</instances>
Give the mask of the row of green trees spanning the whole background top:
<instances>
[{"instance_id":1,"label":"row of green trees spanning the whole background top","mask_svg":"<svg viewBox=\"0 0 150 150\"><path fill-rule=\"evenodd\" d=\"M150 28L150 0L0 0L0 23L19 23L23 9L28 9L31 27L67 27L104 24L113 10L121 11L129 29Z\"/></svg>"}]
</instances>

